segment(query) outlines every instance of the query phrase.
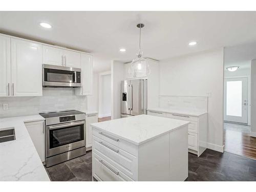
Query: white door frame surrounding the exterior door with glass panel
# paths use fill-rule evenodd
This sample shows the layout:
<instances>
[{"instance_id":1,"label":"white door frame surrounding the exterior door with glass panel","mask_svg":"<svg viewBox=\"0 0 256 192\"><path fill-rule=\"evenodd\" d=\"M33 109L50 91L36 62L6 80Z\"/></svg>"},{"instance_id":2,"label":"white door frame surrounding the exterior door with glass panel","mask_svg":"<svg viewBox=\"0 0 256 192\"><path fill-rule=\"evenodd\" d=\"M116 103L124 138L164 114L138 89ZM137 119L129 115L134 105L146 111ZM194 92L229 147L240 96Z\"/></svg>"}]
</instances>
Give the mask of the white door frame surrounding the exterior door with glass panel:
<instances>
[{"instance_id":1,"label":"white door frame surrounding the exterior door with glass panel","mask_svg":"<svg viewBox=\"0 0 256 192\"><path fill-rule=\"evenodd\" d=\"M224 119L226 114L226 80L228 79L239 79L239 78L246 78L247 79L247 124L250 125L250 76L230 76L227 78L224 78ZM242 101L243 102L243 101Z\"/></svg>"}]
</instances>

